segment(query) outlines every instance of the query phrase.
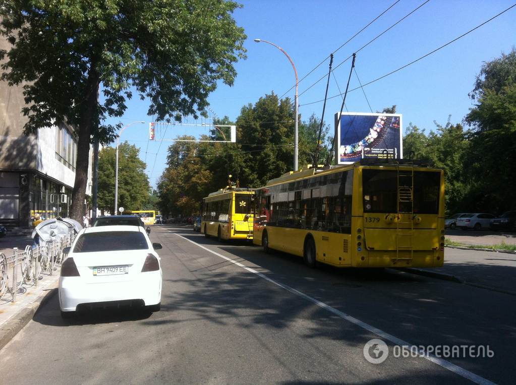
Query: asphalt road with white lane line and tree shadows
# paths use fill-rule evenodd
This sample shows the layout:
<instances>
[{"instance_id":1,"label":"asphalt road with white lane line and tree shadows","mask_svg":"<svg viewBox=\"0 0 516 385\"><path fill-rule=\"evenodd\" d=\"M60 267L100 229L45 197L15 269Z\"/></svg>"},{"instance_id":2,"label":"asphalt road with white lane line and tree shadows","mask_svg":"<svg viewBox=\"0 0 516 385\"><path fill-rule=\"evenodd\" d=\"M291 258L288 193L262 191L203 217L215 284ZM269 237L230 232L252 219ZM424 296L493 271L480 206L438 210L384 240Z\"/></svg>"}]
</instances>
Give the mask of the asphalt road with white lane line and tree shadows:
<instances>
[{"instance_id":1,"label":"asphalt road with white lane line and tree shadows","mask_svg":"<svg viewBox=\"0 0 516 385\"><path fill-rule=\"evenodd\" d=\"M189 228L154 226L151 239L164 246L162 311L96 311L62 321L55 296L0 350L2 383L516 378L514 296L391 270L312 270L296 257L219 244ZM380 364L364 358L374 338L389 346ZM400 340L489 345L494 357L396 358L393 341Z\"/></svg>"}]
</instances>

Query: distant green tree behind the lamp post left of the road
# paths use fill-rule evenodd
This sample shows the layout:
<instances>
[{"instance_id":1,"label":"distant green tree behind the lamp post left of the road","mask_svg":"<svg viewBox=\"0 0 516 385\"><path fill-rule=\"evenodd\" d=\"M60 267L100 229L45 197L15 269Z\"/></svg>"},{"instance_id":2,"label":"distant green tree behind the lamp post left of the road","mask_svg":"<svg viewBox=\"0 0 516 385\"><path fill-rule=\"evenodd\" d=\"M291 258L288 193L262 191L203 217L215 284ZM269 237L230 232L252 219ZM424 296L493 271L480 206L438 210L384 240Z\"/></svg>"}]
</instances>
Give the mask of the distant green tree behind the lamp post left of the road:
<instances>
[{"instance_id":1,"label":"distant green tree behind the lamp post left of the road","mask_svg":"<svg viewBox=\"0 0 516 385\"><path fill-rule=\"evenodd\" d=\"M140 150L123 142L118 146L118 206L141 210L149 199L149 179L146 164L139 158ZM105 147L99 152L99 195L101 210L115 210L116 149Z\"/></svg>"}]
</instances>

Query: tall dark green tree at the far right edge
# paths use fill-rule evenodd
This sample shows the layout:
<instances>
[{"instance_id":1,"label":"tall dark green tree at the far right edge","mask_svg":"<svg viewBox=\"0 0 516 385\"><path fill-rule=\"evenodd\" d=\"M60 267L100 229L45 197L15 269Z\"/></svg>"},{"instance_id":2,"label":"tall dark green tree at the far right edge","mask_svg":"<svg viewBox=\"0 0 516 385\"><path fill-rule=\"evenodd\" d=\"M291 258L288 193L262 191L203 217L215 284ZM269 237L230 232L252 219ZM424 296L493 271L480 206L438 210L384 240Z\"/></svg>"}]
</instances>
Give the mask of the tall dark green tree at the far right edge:
<instances>
[{"instance_id":1,"label":"tall dark green tree at the far right edge","mask_svg":"<svg viewBox=\"0 0 516 385\"><path fill-rule=\"evenodd\" d=\"M466 115L470 148L465 172L474 181L469 201L493 212L516 208L516 49L485 62Z\"/></svg>"}]
</instances>

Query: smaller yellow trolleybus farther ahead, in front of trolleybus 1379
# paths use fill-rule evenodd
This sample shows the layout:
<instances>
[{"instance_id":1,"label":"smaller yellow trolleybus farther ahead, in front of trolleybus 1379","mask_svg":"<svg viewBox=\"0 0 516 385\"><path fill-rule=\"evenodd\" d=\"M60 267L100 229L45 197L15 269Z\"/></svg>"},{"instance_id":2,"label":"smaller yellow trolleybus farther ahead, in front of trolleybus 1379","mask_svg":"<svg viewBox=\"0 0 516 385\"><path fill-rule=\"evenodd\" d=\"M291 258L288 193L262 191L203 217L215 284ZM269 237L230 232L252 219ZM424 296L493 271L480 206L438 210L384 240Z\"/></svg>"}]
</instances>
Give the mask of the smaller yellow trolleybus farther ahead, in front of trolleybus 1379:
<instances>
[{"instance_id":1,"label":"smaller yellow trolleybus farther ahead, in front of trolleybus 1379","mask_svg":"<svg viewBox=\"0 0 516 385\"><path fill-rule=\"evenodd\" d=\"M253 194L244 188L222 189L203 199L201 231L206 237L253 238Z\"/></svg>"}]
</instances>

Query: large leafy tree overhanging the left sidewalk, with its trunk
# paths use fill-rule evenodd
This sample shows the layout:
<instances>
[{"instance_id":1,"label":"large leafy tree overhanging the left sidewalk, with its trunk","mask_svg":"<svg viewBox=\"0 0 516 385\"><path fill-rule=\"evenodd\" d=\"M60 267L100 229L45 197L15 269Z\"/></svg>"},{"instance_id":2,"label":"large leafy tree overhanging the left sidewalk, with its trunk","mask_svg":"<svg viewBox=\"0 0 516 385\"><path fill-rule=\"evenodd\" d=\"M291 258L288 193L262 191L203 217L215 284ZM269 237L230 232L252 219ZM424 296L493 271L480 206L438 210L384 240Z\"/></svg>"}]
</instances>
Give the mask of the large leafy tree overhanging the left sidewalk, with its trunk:
<instances>
[{"instance_id":1,"label":"large leafy tree overhanging the left sidewalk, with its trunk","mask_svg":"<svg viewBox=\"0 0 516 385\"><path fill-rule=\"evenodd\" d=\"M233 1L4 0L2 80L24 84L27 132L67 120L78 152L71 216L79 219L89 145L110 143L127 99L150 99L157 120L205 111L219 80L232 85L246 38ZM100 86L102 86L100 88ZM101 98L98 98L101 89Z\"/></svg>"}]
</instances>

